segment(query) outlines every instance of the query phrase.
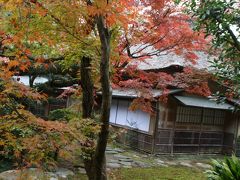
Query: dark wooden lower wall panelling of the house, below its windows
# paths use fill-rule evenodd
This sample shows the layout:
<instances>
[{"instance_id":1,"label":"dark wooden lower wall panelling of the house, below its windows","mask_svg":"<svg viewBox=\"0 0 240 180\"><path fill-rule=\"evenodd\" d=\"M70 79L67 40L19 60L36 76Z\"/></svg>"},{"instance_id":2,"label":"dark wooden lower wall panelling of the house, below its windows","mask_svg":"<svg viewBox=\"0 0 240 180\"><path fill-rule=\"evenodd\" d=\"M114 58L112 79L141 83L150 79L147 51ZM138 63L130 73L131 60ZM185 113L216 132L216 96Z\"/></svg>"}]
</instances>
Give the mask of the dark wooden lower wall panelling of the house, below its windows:
<instances>
[{"instance_id":1,"label":"dark wooden lower wall panelling of the house, below its windows","mask_svg":"<svg viewBox=\"0 0 240 180\"><path fill-rule=\"evenodd\" d=\"M229 154L234 150L232 133L158 129L154 135L128 129L118 138L135 150L152 154Z\"/></svg>"}]
</instances>

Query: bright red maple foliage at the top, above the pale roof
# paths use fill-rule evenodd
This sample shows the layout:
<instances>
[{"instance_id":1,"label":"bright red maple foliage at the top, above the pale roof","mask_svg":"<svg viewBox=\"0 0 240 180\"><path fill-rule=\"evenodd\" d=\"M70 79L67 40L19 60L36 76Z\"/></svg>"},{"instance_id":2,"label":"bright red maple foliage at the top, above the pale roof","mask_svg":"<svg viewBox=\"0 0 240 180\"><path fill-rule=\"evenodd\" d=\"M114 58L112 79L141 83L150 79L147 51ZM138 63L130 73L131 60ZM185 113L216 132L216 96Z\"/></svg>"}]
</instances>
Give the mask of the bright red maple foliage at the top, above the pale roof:
<instances>
[{"instance_id":1,"label":"bright red maple foliage at the top, above the pale roof","mask_svg":"<svg viewBox=\"0 0 240 180\"><path fill-rule=\"evenodd\" d=\"M125 67L132 59L144 60L174 52L196 60L196 51L205 51L208 40L203 33L193 31L191 19L182 6L171 0L141 1L139 13L120 36L117 46L120 58L115 67Z\"/></svg>"}]
</instances>

